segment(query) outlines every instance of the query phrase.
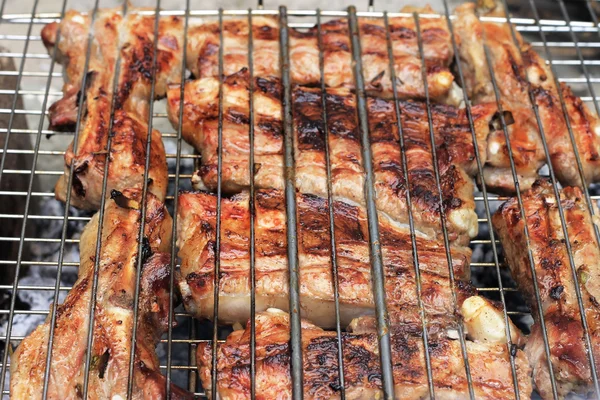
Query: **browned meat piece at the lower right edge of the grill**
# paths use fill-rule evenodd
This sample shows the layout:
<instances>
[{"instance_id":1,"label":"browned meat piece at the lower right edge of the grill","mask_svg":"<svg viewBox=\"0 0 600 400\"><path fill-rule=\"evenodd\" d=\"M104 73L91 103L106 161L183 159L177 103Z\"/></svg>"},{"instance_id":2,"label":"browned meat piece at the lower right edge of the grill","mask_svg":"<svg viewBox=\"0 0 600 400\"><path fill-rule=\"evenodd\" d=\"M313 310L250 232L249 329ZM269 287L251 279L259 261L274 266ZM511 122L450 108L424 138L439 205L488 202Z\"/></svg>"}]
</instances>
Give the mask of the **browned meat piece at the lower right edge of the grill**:
<instances>
[{"instance_id":1,"label":"browned meat piece at the lower right edge of the grill","mask_svg":"<svg viewBox=\"0 0 600 400\"><path fill-rule=\"evenodd\" d=\"M538 181L523 196L526 220L523 221L516 198L504 203L493 217L512 275L525 294L531 308L537 310L535 285L540 301L548 341L554 378L559 396L568 392L587 393L593 390L590 365L584 342L581 315L576 295L576 283L582 293L592 351L596 367L600 361L600 298L598 273L600 249L594 235L594 223L587 211L579 188L567 187L560 192L565 212L569 242L577 270L577 282L572 276L571 264L563 236L558 203L548 181ZM596 210L597 213L597 210ZM525 224L529 240L525 237ZM537 281L532 278L527 251L533 255ZM533 376L543 398L552 398L550 375L544 351L539 316L525 347L533 367Z\"/></svg>"}]
</instances>

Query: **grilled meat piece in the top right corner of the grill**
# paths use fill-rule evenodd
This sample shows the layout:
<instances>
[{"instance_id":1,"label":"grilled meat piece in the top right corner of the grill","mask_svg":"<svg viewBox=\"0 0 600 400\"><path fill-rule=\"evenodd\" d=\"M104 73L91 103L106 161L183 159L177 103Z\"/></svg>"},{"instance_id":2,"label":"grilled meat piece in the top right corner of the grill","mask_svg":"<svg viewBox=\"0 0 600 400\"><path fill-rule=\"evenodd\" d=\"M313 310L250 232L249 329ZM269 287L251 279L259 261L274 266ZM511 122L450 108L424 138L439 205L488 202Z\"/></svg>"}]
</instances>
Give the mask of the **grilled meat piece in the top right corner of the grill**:
<instances>
[{"instance_id":1,"label":"grilled meat piece in the top right corner of the grill","mask_svg":"<svg viewBox=\"0 0 600 400\"><path fill-rule=\"evenodd\" d=\"M571 89L555 85L552 71L516 33L515 45L507 24L481 22L474 4L456 9L455 34L465 72L465 85L475 104L496 101L484 53L484 38L501 94L502 107L512 113L508 127L510 145L522 189L531 187L546 157L540 127L531 108L529 91L539 109L543 132L556 176L563 185L580 186L575 151L560 104L559 90L565 100L577 150L587 183L600 179L600 121L574 96ZM486 184L499 192L514 192L507 143L502 130L490 135L487 147Z\"/></svg>"}]
</instances>

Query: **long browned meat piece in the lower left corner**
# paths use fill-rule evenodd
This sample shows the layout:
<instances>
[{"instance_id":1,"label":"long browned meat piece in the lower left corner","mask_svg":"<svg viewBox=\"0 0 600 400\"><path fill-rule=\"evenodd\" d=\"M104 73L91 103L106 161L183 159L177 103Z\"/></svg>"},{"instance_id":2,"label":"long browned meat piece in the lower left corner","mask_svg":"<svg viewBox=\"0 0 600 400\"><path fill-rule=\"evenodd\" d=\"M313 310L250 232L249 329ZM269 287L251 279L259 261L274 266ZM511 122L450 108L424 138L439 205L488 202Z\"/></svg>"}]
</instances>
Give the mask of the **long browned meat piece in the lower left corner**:
<instances>
[{"instance_id":1,"label":"long browned meat piece in the lower left corner","mask_svg":"<svg viewBox=\"0 0 600 400\"><path fill-rule=\"evenodd\" d=\"M89 397L127 398L134 324L141 190L113 193L106 204L98 290L94 315ZM57 305L48 398L81 398L89 326L99 215L81 234L79 278L63 304ZM133 369L133 399L166 399L155 347L168 328L171 217L156 196L148 194L139 292L138 330ZM26 337L11 359L11 395L42 396L50 316ZM193 398L175 386L172 398Z\"/></svg>"}]
</instances>

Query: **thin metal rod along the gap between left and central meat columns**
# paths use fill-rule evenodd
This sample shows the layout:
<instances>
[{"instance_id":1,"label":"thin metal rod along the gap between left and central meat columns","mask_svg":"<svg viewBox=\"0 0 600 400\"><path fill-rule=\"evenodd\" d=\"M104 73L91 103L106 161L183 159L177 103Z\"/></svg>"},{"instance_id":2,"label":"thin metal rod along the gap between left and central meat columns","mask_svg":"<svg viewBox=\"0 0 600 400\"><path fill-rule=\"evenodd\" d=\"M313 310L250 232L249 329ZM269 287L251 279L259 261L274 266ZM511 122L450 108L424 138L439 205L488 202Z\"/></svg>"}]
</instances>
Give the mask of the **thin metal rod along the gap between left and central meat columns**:
<instances>
[{"instance_id":1,"label":"thin metal rod along the gap between left and central meat columns","mask_svg":"<svg viewBox=\"0 0 600 400\"><path fill-rule=\"evenodd\" d=\"M179 80L181 84L179 86L179 124L177 125L177 153L175 161L175 195L173 198L173 224L171 226L171 264L169 274L169 309L168 309L168 330L167 330L167 371L165 373L165 397L171 398L171 370L173 368L173 314L174 314L174 287L175 287L175 270L177 268L177 207L179 206L179 173L181 168L181 141L182 141L182 127L183 127L183 108L185 99L185 72L186 72L186 59L187 59L187 31L189 24L189 13L190 11L190 0L185 1L185 15L183 20L183 44L182 44L182 56L181 56L181 75Z\"/></svg>"}]
</instances>

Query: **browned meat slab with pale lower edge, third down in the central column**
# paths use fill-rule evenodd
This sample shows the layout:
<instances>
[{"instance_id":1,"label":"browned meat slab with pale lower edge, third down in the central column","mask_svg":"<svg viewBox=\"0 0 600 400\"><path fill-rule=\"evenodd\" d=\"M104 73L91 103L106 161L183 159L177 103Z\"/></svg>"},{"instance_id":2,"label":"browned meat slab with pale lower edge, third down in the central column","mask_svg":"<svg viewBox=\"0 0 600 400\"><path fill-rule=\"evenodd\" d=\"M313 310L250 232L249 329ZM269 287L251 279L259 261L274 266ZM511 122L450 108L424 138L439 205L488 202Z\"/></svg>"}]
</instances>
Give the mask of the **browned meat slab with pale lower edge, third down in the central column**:
<instances>
[{"instance_id":1,"label":"browned meat slab with pale lower edge, third down in the central column","mask_svg":"<svg viewBox=\"0 0 600 400\"><path fill-rule=\"evenodd\" d=\"M327 200L299 194L298 239L302 313L317 325L335 323L331 241ZM243 322L250 315L250 213L246 192L221 202L221 250L215 254L215 195L182 193L178 208L180 289L186 308L196 317L212 318L215 259L220 258L219 321ZM288 308L285 200L282 191L256 193L256 309ZM335 201L339 299L342 322L374 312L366 211ZM420 326L410 232L380 214L387 304L395 323ZM439 241L418 235L422 300L431 325L454 323L446 251ZM459 303L471 295L470 249L451 248ZM458 304L460 306L460 304Z\"/></svg>"}]
</instances>

